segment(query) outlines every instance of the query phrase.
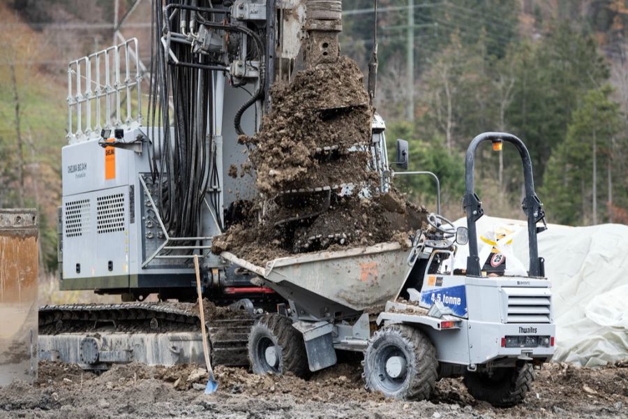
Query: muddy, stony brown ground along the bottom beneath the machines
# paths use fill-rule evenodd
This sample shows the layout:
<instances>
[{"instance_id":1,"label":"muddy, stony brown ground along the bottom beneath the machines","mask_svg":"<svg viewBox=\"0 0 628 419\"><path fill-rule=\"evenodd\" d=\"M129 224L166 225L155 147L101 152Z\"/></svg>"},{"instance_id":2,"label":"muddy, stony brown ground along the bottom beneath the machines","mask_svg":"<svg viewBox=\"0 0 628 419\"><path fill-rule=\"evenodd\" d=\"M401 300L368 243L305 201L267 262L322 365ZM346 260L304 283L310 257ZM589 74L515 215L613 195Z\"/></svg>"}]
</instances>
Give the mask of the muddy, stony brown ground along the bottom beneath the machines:
<instances>
[{"instance_id":1,"label":"muddy, stony brown ground along the bottom beneath the machines","mask_svg":"<svg viewBox=\"0 0 628 419\"><path fill-rule=\"evenodd\" d=\"M255 376L218 367L218 392L204 395L195 367L126 365L96 375L42 362L34 385L0 388L0 418L626 418L628 364L587 369L551 364L525 402L495 409L460 379L439 381L429 401L399 402L364 390L359 360L315 374Z\"/></svg>"}]
</instances>

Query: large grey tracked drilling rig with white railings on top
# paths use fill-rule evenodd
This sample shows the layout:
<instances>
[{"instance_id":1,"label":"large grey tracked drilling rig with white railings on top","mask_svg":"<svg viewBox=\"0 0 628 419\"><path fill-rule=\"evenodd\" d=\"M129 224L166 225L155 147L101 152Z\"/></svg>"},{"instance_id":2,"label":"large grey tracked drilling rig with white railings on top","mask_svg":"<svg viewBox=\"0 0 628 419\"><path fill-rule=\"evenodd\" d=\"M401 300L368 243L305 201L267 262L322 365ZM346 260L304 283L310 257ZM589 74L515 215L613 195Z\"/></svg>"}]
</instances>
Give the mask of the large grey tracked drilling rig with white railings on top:
<instances>
[{"instance_id":1,"label":"large grey tracked drilling rig with white railings on top","mask_svg":"<svg viewBox=\"0 0 628 419\"><path fill-rule=\"evenodd\" d=\"M141 63L135 38L70 62L59 288L120 295L125 304L43 307L42 358L98 369L130 360L202 361L200 335L186 335L200 323L191 304L194 254L201 256L203 295L215 304L253 314L285 302L210 249L239 220L239 203L257 194L254 172L228 175L248 160L238 137L259 130L272 107L271 84L338 57L341 10L339 0L157 0L150 66ZM375 115L368 152L382 177L383 132ZM294 196L286 191L277 202L292 205ZM145 302L151 294L161 302ZM179 304L165 302L173 299ZM221 321L224 328L211 325L212 347L239 355L215 361L248 365L251 316ZM172 339L193 344L170 345Z\"/></svg>"}]
</instances>

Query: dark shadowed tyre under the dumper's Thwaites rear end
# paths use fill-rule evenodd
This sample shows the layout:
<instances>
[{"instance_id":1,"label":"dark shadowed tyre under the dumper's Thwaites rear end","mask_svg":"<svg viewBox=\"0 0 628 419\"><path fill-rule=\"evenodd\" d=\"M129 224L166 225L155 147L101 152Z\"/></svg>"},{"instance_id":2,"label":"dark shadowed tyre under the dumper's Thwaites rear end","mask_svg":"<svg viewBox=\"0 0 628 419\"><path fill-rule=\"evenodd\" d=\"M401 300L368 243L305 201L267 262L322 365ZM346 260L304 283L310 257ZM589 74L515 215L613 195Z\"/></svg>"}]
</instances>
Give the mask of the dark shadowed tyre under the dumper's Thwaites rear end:
<instances>
[{"instance_id":1,"label":"dark shadowed tyre under the dumper's Thwaites rear end","mask_svg":"<svg viewBox=\"0 0 628 419\"><path fill-rule=\"evenodd\" d=\"M519 367L497 368L493 376L486 372L466 372L463 383L470 395L495 407L512 407L523 402L532 388L534 369L529 363Z\"/></svg>"}]
</instances>

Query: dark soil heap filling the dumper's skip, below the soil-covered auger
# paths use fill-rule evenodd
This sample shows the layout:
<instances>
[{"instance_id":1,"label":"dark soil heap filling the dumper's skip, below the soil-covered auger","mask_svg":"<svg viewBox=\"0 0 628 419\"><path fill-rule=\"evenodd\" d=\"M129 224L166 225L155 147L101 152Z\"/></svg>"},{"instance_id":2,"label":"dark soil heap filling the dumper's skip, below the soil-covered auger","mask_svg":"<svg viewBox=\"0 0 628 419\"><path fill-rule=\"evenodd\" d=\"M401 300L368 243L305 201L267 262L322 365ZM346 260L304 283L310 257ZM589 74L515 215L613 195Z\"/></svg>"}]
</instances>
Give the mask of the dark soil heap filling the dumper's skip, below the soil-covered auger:
<instances>
[{"instance_id":1,"label":"dark soil heap filling the dumper's skip, below the soil-covered auger","mask_svg":"<svg viewBox=\"0 0 628 419\"><path fill-rule=\"evenodd\" d=\"M427 210L406 202L396 191L368 200L334 196L322 214L287 226L276 226L291 216L320 211L321 200L297 212L273 208L262 219L248 216L224 235L214 238L212 251L231 251L264 266L268 260L301 251L338 250L350 245L371 246L382 242L400 242L405 246L410 233L426 228ZM257 214L255 209L248 212Z\"/></svg>"}]
</instances>

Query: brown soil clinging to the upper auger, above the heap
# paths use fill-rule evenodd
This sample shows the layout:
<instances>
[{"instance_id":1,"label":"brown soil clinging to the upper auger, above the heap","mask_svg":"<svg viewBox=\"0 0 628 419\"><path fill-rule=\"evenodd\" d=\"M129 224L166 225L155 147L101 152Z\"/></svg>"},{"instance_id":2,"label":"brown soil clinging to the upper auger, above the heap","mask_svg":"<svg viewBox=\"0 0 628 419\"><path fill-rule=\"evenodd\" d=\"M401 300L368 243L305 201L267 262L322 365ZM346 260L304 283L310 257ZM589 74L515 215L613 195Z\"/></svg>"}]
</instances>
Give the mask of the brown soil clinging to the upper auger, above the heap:
<instances>
[{"instance_id":1,"label":"brown soil clinging to the upper auger, above the heap","mask_svg":"<svg viewBox=\"0 0 628 419\"><path fill-rule=\"evenodd\" d=\"M264 115L260 132L240 138L255 146L251 161L262 193L313 187L313 173L324 178L331 168L321 163L320 149L343 151L367 145L371 138L373 111L364 75L352 59L339 57L336 64L299 71L290 84L275 84L271 97L272 110ZM359 154L354 161L352 166L364 170L368 156Z\"/></svg>"}]
</instances>

